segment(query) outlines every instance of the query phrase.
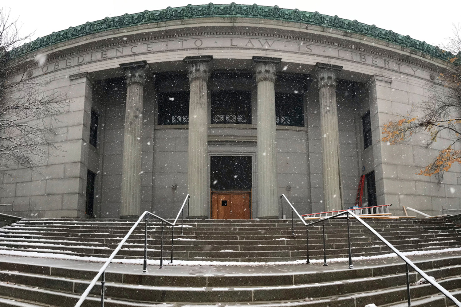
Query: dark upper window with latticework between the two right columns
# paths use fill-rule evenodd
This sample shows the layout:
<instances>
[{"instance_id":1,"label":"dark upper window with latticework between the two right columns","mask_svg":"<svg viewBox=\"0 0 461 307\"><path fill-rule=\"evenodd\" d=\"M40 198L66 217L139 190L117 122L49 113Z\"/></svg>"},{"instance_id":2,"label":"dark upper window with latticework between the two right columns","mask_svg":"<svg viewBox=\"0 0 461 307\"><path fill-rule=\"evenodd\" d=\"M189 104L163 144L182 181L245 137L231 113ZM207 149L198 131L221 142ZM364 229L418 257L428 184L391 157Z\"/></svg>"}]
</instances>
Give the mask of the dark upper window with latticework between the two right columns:
<instances>
[{"instance_id":1,"label":"dark upper window with latticework between the two right columns","mask_svg":"<svg viewBox=\"0 0 461 307\"><path fill-rule=\"evenodd\" d=\"M301 94L275 93L275 123L280 126L304 127Z\"/></svg>"}]
</instances>

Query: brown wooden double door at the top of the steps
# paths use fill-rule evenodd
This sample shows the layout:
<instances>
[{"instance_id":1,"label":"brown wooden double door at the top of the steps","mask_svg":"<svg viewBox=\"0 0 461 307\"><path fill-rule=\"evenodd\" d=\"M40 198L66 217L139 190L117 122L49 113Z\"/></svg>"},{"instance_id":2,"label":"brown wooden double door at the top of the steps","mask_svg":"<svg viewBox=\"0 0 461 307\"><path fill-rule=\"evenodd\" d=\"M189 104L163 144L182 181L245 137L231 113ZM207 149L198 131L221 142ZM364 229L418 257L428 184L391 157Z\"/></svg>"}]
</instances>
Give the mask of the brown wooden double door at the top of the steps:
<instances>
[{"instance_id":1,"label":"brown wooden double door at the top of the steps","mask_svg":"<svg viewBox=\"0 0 461 307\"><path fill-rule=\"evenodd\" d=\"M212 193L212 219L249 220L250 193Z\"/></svg>"}]
</instances>

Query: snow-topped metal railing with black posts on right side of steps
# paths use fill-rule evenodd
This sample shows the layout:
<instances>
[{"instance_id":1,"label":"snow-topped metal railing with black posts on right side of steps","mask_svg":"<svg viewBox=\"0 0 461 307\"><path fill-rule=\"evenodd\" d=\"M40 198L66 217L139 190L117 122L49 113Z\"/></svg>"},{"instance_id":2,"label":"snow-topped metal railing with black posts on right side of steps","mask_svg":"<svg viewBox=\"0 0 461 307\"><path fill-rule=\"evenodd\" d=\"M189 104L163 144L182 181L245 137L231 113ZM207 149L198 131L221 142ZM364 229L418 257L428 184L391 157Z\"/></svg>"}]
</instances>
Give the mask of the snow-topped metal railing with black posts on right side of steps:
<instances>
[{"instance_id":1,"label":"snow-topped metal railing with black posts on right side of steps","mask_svg":"<svg viewBox=\"0 0 461 307\"><path fill-rule=\"evenodd\" d=\"M312 226L313 224L317 223L322 223L322 233L323 233L323 259L324 259L324 266L327 266L326 262L326 249L325 249L325 220L330 220L334 218L346 218L347 222L347 232L348 232L348 243L349 243L349 269L354 268L352 265L352 255L351 255L351 243L350 243L350 227L349 227L349 219L350 217L355 218L355 220L359 221L363 226L365 226L372 234L374 234L376 237L378 237L379 240L381 240L384 244L387 245L394 253L396 253L397 256L399 256L404 262L405 262L405 268L406 268L406 276L407 276L407 298L408 298L408 306L411 306L411 295L410 295L410 279L409 279L409 267L411 266L416 272L418 272L426 281L431 284L432 286L436 287L437 290L439 290L443 295L448 297L451 301L455 303L456 306L461 307L461 302L458 301L453 295L449 293L445 288L443 288L440 284L438 284L434 279L430 278L425 272L423 272L418 266L416 266L411 260L409 260L405 255L403 255L398 249L394 247L391 243L389 243L384 237L382 237L376 230L372 228L372 226L368 225L364 220L362 220L358 215L354 214L351 210L345 210L342 211L341 213L338 213L336 215L328 216L325 218L322 218L320 220L316 220L312 223L307 224L301 217L301 215L296 211L296 209L293 207L293 205L290 203L288 198L284 194L280 196L283 202L283 198L287 201L287 203L291 206L292 214L291 214L291 225L292 225L292 233L294 234L294 228L293 228L293 210L296 212L296 214L299 216L301 221L306 225L306 246L307 246L307 263L309 263L309 238L308 238L308 227ZM349 216L350 215L350 216Z\"/></svg>"}]
</instances>

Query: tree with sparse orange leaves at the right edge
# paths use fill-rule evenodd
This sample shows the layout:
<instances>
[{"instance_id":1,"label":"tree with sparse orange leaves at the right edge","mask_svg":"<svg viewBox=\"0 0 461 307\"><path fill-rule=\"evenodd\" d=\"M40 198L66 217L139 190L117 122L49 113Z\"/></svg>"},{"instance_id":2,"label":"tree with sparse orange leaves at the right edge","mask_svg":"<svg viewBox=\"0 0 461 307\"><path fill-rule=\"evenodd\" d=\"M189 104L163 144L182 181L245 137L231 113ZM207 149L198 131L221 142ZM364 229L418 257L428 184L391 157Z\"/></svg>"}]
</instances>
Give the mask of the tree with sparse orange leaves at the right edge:
<instances>
[{"instance_id":1,"label":"tree with sparse orange leaves at the right edge","mask_svg":"<svg viewBox=\"0 0 461 307\"><path fill-rule=\"evenodd\" d=\"M436 175L439 182L443 173L453 163L461 163L461 150L452 147L461 142L461 27L455 27L454 36L450 39L446 50L456 54L450 59L452 65L449 72L440 73L431 80L430 97L428 101L418 106L420 116L407 116L384 124L382 141L390 145L408 140L414 133L426 132L425 147L430 147L437 141L443 131L447 132L452 142L439 152L439 155L421 170L419 175Z\"/></svg>"}]
</instances>

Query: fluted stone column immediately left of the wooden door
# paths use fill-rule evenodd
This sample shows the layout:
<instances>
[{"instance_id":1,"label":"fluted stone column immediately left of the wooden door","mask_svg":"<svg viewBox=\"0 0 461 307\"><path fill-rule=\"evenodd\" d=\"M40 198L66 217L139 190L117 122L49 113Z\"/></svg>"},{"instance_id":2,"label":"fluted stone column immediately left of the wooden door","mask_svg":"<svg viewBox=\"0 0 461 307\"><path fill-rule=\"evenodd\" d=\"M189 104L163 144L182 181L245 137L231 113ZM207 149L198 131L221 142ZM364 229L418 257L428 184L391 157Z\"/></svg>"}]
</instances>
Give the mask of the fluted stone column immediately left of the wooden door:
<instances>
[{"instance_id":1,"label":"fluted stone column immediately left of the wooden door","mask_svg":"<svg viewBox=\"0 0 461 307\"><path fill-rule=\"evenodd\" d=\"M189 147L187 185L189 216L207 219L208 206L208 77L212 56L186 57L189 64Z\"/></svg>"}]
</instances>

